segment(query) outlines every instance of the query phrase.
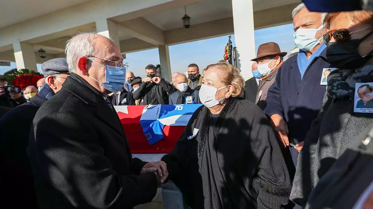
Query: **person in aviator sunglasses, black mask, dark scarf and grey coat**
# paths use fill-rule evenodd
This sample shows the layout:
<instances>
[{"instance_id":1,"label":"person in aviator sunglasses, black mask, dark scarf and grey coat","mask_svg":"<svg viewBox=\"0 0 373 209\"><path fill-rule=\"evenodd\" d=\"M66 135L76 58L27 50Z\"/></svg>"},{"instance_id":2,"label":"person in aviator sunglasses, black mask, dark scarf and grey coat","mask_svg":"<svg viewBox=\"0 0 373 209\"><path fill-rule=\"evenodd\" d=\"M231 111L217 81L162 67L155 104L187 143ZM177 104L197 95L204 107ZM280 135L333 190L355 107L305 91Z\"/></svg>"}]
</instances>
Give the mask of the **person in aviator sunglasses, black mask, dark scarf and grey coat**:
<instances>
[{"instance_id":1,"label":"person in aviator sunglasses, black mask, dark scarf and grey coat","mask_svg":"<svg viewBox=\"0 0 373 209\"><path fill-rule=\"evenodd\" d=\"M373 113L354 109L356 86L373 83L373 12L328 13L325 23L330 30L324 35L327 61L339 69L327 78L322 110L298 157L290 199L303 206L319 179L373 122Z\"/></svg>"}]
</instances>

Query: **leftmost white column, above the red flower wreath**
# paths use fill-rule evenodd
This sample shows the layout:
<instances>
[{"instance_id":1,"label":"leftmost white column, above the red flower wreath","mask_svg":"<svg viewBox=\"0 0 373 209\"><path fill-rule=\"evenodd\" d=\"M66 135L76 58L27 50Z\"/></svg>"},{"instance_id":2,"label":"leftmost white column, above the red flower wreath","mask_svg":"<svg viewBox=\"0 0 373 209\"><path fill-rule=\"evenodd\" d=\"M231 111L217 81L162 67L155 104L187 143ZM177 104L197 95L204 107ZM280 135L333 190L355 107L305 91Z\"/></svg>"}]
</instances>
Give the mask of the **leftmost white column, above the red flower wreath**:
<instances>
[{"instance_id":1,"label":"leftmost white column, above the red flower wreath","mask_svg":"<svg viewBox=\"0 0 373 209\"><path fill-rule=\"evenodd\" d=\"M34 47L31 44L16 41L13 43L13 50L17 70L29 69L32 71L38 71L36 68Z\"/></svg>"}]
</instances>

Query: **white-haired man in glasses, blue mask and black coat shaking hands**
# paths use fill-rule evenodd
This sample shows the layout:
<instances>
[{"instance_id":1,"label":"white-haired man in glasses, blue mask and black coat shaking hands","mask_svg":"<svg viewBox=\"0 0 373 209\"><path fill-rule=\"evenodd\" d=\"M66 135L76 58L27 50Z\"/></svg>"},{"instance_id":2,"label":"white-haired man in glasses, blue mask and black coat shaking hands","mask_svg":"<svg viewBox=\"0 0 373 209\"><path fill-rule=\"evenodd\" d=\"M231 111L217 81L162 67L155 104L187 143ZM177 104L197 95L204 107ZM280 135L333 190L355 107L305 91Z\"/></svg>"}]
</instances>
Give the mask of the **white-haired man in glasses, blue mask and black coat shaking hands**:
<instances>
[{"instance_id":1,"label":"white-haired man in glasses, blue mask and black coat shaking hands","mask_svg":"<svg viewBox=\"0 0 373 209\"><path fill-rule=\"evenodd\" d=\"M166 168L132 158L107 99L125 83L119 48L105 36L79 33L68 41L66 57L70 77L40 107L30 133L39 208L129 209L150 202Z\"/></svg>"}]
</instances>

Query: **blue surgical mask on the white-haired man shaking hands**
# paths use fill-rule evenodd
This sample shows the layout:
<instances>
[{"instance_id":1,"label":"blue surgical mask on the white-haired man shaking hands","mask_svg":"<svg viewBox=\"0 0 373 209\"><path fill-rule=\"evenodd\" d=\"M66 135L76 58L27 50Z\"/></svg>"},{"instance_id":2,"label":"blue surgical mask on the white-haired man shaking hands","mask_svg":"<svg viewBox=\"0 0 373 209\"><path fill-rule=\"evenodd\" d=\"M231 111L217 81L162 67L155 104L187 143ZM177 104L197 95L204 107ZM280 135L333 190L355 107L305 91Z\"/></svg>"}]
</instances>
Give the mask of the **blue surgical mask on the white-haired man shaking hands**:
<instances>
[{"instance_id":1,"label":"blue surgical mask on the white-haired man shaking hands","mask_svg":"<svg viewBox=\"0 0 373 209\"><path fill-rule=\"evenodd\" d=\"M105 74L105 82L100 82L93 77L91 78L101 83L102 87L111 92L117 93L120 91L120 89L123 87L123 83L126 81L126 67L105 65Z\"/></svg>"}]
</instances>

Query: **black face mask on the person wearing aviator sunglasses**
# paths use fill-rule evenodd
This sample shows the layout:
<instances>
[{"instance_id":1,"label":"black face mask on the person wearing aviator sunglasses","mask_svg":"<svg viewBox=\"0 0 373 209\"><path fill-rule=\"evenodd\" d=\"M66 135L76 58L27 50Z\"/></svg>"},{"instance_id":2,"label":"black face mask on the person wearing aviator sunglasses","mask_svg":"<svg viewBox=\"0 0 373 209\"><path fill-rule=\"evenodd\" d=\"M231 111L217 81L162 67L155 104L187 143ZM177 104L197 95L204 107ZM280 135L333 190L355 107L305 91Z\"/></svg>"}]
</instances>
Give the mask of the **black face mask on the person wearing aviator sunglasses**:
<instances>
[{"instance_id":1,"label":"black face mask on the person wearing aviator sunglasses","mask_svg":"<svg viewBox=\"0 0 373 209\"><path fill-rule=\"evenodd\" d=\"M361 39L352 39L347 44L329 42L326 44L326 59L330 67L356 69L363 66L373 57L373 50L365 57L361 57L357 49L361 42L373 34L373 31Z\"/></svg>"}]
</instances>

